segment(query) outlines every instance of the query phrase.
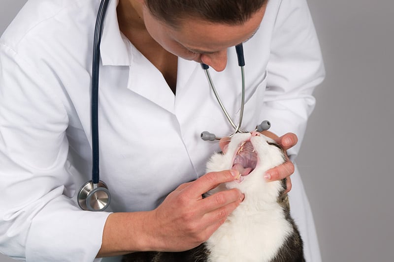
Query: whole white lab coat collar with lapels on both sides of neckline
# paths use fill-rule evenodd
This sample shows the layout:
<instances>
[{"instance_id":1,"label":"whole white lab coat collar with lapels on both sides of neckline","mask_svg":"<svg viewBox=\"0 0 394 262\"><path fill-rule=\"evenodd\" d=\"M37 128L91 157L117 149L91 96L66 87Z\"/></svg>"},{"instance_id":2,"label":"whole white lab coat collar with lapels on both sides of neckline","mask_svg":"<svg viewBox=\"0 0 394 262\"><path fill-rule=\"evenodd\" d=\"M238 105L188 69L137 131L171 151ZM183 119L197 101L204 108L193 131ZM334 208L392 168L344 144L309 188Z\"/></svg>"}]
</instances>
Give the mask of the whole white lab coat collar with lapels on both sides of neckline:
<instances>
[{"instance_id":1,"label":"whole white lab coat collar with lapels on both sides of neckline","mask_svg":"<svg viewBox=\"0 0 394 262\"><path fill-rule=\"evenodd\" d=\"M130 66L128 88L174 113L175 96L162 73L120 31L116 13L118 3L119 0L111 0L107 7L100 44L102 65ZM177 93L188 86L198 67L194 61L178 58ZM146 76L147 68L149 76Z\"/></svg>"}]
</instances>

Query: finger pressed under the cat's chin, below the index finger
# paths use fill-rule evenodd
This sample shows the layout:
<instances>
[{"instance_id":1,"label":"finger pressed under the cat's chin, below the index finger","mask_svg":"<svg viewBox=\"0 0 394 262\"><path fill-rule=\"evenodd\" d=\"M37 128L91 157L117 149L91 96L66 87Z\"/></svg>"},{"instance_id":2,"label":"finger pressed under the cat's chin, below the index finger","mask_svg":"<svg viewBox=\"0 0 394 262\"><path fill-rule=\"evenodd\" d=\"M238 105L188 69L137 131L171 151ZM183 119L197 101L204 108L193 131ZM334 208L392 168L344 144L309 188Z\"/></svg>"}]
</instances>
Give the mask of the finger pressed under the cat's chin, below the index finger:
<instances>
[{"instance_id":1,"label":"finger pressed under the cat's chin, below the index finger","mask_svg":"<svg viewBox=\"0 0 394 262\"><path fill-rule=\"evenodd\" d=\"M234 202L241 203L244 197L241 191L233 188L210 195L204 198L201 204L206 212L211 212Z\"/></svg>"}]
</instances>

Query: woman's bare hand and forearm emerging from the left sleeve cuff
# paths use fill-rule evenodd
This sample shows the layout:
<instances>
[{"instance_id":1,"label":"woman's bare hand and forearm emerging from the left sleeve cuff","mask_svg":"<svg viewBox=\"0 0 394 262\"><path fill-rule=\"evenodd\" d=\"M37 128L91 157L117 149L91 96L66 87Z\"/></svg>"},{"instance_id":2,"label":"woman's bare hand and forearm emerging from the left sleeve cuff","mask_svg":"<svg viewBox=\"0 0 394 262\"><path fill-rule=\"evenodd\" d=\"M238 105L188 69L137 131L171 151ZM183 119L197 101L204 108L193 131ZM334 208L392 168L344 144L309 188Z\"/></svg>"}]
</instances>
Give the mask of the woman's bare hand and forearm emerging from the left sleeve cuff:
<instances>
[{"instance_id":1,"label":"woman's bare hand and forearm emerging from the left sleeve cuff","mask_svg":"<svg viewBox=\"0 0 394 262\"><path fill-rule=\"evenodd\" d=\"M212 172L181 184L156 209L109 214L97 257L137 251L184 251L205 242L242 202L238 189L202 194L237 179L238 171Z\"/></svg>"}]
</instances>

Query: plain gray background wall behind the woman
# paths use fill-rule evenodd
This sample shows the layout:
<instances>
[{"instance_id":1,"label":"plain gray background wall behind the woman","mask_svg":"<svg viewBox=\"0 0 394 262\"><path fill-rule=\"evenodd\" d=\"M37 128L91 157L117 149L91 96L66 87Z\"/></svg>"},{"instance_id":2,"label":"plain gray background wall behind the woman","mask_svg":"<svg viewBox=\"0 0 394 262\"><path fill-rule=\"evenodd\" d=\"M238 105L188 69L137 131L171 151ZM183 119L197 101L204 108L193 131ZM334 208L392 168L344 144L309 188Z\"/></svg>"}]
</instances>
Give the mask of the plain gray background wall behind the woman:
<instances>
[{"instance_id":1,"label":"plain gray background wall behind the woman","mask_svg":"<svg viewBox=\"0 0 394 262\"><path fill-rule=\"evenodd\" d=\"M0 0L0 33L25 2ZM393 262L394 2L308 3L327 78L297 164L323 262Z\"/></svg>"}]
</instances>

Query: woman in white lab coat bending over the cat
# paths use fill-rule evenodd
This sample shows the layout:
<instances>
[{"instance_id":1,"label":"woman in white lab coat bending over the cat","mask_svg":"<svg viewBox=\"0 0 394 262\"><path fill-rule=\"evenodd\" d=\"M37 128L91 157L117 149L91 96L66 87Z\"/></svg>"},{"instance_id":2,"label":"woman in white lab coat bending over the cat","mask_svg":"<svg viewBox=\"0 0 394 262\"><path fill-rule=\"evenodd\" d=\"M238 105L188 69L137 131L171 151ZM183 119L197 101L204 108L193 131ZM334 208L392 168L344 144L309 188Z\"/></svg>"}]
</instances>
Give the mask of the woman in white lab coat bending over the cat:
<instances>
[{"instance_id":1,"label":"woman in white lab coat bending over the cat","mask_svg":"<svg viewBox=\"0 0 394 262\"><path fill-rule=\"evenodd\" d=\"M76 192L92 166L98 5L30 0L0 40L0 251L16 259L87 262L204 241L243 196L231 190L218 196L222 203L201 200L211 186L234 178L230 171L204 175L219 145L202 141L200 133L225 136L232 128L197 62L218 71L211 70L214 84L238 119L241 77L232 46L244 42L242 128L270 120L273 134L290 133L279 140L291 159L314 107L312 91L324 77L305 0L268 1L242 24L196 15L166 21L143 0L111 0L100 46L99 146L100 179L112 200L105 212L83 211ZM292 168L289 161L267 179L289 176ZM297 170L292 182L306 259L319 262Z\"/></svg>"}]
</instances>

